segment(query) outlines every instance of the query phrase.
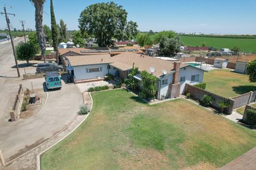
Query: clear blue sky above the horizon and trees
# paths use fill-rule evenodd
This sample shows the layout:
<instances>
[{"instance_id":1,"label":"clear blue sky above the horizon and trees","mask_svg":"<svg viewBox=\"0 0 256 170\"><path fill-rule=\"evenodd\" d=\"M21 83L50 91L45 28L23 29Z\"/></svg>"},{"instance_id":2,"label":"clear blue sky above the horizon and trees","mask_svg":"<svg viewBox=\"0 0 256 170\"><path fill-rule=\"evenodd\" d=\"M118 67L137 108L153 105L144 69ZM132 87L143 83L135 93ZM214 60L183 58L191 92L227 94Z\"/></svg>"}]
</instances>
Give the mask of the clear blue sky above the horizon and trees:
<instances>
[{"instance_id":1,"label":"clear blue sky above the horizon and trees","mask_svg":"<svg viewBox=\"0 0 256 170\"><path fill-rule=\"evenodd\" d=\"M57 22L63 19L69 30L78 29L78 18L86 6L98 2L94 0L53 0ZM225 34L256 34L255 0L120 0L128 12L127 21L138 23L141 31L174 30L177 32L204 32ZM20 20L25 20L25 28L35 29L35 8L29 0L0 0L0 12L4 4L13 28L21 29ZM43 23L50 26L50 0L44 5ZM6 27L4 16L0 15L0 29Z\"/></svg>"}]
</instances>

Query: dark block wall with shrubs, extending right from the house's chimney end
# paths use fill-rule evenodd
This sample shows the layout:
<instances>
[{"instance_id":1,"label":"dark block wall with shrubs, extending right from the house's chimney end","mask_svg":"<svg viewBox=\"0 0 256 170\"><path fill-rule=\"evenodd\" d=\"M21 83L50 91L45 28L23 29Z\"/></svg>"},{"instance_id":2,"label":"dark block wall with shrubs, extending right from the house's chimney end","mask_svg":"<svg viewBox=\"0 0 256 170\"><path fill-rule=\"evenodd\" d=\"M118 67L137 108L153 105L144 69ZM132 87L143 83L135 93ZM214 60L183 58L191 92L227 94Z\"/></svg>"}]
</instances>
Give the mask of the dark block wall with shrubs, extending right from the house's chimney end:
<instances>
[{"instance_id":1,"label":"dark block wall with shrubs, extending right from the house's chimney end","mask_svg":"<svg viewBox=\"0 0 256 170\"><path fill-rule=\"evenodd\" d=\"M202 100L204 95L211 96L214 99L212 107L214 107L215 109L219 109L219 106L217 104L218 100L226 100L226 101L229 102L230 106L225 109L225 112L227 112L228 114L231 114L233 112L233 105L234 105L234 102L235 102L233 99L229 99L229 98L217 95L217 94L213 94L210 91L200 89L200 88L195 87L195 86L191 86L190 84L186 84L185 92L189 93L191 98L194 98L196 100Z\"/></svg>"}]
</instances>

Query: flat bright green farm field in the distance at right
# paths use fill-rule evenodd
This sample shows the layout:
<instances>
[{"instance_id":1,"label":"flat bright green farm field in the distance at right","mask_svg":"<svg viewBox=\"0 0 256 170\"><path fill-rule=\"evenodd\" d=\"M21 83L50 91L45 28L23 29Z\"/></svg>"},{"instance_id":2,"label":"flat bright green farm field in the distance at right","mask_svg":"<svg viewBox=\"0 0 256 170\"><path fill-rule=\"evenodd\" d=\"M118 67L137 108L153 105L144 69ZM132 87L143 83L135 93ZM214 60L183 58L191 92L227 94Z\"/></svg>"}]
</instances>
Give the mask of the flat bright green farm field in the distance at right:
<instances>
[{"instance_id":1,"label":"flat bright green farm field in the distance at right","mask_svg":"<svg viewBox=\"0 0 256 170\"><path fill-rule=\"evenodd\" d=\"M204 42L206 46L218 49L238 46L242 52L256 53L256 39L181 36L181 41L187 46L202 46Z\"/></svg>"}]
</instances>

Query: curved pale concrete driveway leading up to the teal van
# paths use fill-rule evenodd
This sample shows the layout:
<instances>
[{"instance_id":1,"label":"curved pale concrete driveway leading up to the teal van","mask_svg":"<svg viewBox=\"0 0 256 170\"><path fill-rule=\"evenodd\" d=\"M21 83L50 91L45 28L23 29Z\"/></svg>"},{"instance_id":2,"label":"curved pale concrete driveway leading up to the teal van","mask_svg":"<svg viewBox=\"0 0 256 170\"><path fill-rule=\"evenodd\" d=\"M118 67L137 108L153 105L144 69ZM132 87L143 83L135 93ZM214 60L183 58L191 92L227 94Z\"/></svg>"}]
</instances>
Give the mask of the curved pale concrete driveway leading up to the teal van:
<instances>
[{"instance_id":1,"label":"curved pale concrete driveway leading up to the teal van","mask_svg":"<svg viewBox=\"0 0 256 170\"><path fill-rule=\"evenodd\" d=\"M43 88L44 79L23 81L24 88ZM0 149L6 161L34 148L65 128L82 105L82 94L75 84L62 82L61 90L47 91L48 98L39 114L0 125Z\"/></svg>"}]
</instances>

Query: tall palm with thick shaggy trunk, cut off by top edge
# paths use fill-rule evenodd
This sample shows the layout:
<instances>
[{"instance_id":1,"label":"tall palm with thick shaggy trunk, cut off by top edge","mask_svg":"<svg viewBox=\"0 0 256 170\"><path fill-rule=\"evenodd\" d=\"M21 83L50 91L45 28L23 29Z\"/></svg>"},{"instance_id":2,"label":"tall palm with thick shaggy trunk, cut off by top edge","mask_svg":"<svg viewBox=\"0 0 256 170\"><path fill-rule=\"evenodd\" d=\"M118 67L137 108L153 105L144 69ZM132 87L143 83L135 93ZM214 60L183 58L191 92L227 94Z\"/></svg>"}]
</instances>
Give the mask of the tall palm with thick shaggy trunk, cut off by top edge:
<instances>
[{"instance_id":1,"label":"tall palm with thick shaggy trunk, cut off by top edge","mask_svg":"<svg viewBox=\"0 0 256 170\"><path fill-rule=\"evenodd\" d=\"M45 63L46 36L43 27L43 6L45 0L29 0L35 6L36 35Z\"/></svg>"}]
</instances>

